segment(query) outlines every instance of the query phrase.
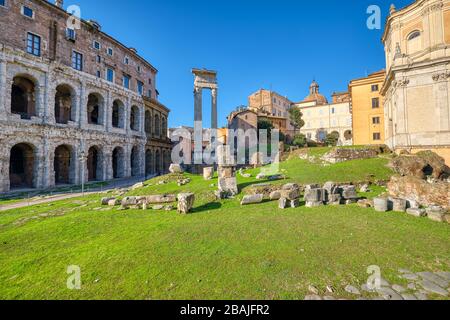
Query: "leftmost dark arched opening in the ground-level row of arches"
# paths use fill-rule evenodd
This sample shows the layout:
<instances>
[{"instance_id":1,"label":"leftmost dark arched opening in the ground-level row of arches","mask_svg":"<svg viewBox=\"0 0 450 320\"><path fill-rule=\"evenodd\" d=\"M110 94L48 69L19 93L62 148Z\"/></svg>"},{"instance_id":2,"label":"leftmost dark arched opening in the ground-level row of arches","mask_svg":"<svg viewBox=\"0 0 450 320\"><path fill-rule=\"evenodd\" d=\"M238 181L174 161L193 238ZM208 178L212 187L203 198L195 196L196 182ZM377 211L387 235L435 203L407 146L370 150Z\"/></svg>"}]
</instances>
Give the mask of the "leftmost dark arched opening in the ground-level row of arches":
<instances>
[{"instance_id":1,"label":"leftmost dark arched opening in the ground-level row of arches","mask_svg":"<svg viewBox=\"0 0 450 320\"><path fill-rule=\"evenodd\" d=\"M12 147L9 159L10 188L34 188L35 167L34 147L25 143Z\"/></svg>"}]
</instances>

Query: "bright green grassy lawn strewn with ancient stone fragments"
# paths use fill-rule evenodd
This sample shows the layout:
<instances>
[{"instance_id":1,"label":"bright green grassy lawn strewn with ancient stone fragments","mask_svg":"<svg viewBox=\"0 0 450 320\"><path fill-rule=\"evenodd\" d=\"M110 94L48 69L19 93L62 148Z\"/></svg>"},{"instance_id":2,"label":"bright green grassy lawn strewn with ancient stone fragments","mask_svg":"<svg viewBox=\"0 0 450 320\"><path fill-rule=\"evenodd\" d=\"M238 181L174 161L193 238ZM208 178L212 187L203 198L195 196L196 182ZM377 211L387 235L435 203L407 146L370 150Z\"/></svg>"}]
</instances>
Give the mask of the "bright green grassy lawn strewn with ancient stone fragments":
<instances>
[{"instance_id":1,"label":"bright green grassy lawn strewn with ancient stone fragments","mask_svg":"<svg viewBox=\"0 0 450 320\"><path fill-rule=\"evenodd\" d=\"M286 181L313 183L385 180L386 163L294 159L281 167ZM186 186L155 183L163 177L130 195L195 192L188 216L99 211L100 195L0 213L0 299L303 299L310 284L350 298L343 287L364 283L370 265L403 285L398 268L450 270L446 224L356 205L241 207L242 195L216 201L216 181L186 176ZM255 181L239 178L241 186ZM81 290L66 288L69 265L81 267Z\"/></svg>"}]
</instances>

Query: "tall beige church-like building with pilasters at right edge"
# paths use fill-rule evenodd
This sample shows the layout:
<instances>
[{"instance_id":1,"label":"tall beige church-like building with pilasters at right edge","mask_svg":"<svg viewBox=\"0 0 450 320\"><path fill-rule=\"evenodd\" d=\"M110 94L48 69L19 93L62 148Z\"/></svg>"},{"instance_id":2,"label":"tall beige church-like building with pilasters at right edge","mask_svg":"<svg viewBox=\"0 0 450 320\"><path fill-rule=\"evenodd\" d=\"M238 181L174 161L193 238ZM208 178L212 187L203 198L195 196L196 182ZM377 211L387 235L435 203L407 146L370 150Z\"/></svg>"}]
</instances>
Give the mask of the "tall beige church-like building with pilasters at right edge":
<instances>
[{"instance_id":1,"label":"tall beige church-like building with pilasters at right edge","mask_svg":"<svg viewBox=\"0 0 450 320\"><path fill-rule=\"evenodd\" d=\"M386 52L386 144L433 150L450 163L450 0L391 7Z\"/></svg>"}]
</instances>

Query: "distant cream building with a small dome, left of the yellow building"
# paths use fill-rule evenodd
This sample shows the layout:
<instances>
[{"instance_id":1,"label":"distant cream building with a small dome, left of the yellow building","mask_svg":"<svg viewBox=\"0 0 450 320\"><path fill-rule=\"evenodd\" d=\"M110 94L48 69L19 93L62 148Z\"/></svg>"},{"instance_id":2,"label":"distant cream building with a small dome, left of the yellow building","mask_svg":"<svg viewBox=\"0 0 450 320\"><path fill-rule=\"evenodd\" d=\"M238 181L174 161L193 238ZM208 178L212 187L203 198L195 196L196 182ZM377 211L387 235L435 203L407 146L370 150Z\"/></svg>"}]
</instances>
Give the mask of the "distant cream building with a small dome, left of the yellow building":
<instances>
[{"instance_id":1,"label":"distant cream building with a small dome, left of the yellow building","mask_svg":"<svg viewBox=\"0 0 450 320\"><path fill-rule=\"evenodd\" d=\"M310 86L309 95L293 107L303 113L305 126L300 130L310 140L323 142L327 134L339 134L340 145L351 145L352 114L348 92L333 94L333 103L328 103L325 96L319 92L316 81Z\"/></svg>"}]
</instances>

